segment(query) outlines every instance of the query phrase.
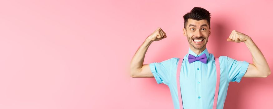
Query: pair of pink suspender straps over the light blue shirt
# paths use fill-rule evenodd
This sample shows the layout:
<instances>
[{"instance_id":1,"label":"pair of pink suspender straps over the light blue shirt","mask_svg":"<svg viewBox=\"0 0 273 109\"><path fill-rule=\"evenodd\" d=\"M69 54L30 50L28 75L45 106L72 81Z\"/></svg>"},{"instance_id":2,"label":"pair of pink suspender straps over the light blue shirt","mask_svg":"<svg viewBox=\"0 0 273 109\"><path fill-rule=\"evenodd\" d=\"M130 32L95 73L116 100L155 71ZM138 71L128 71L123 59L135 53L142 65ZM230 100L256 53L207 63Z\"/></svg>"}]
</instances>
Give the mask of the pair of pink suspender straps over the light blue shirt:
<instances>
[{"instance_id":1,"label":"pair of pink suspender straps over the light blue shirt","mask_svg":"<svg viewBox=\"0 0 273 109\"><path fill-rule=\"evenodd\" d=\"M176 84L177 84L177 93L178 93L178 101L179 101L180 109L183 109L181 87L180 87L181 85L180 85L180 79L179 79L181 67L182 67L182 62L183 62L183 59L180 58L178 61L177 70L176 70ZM216 107L217 107L218 92L219 92L219 86L220 86L220 64L219 64L218 58L215 58L215 65L216 65L216 86L215 86L213 109L216 109Z\"/></svg>"}]
</instances>

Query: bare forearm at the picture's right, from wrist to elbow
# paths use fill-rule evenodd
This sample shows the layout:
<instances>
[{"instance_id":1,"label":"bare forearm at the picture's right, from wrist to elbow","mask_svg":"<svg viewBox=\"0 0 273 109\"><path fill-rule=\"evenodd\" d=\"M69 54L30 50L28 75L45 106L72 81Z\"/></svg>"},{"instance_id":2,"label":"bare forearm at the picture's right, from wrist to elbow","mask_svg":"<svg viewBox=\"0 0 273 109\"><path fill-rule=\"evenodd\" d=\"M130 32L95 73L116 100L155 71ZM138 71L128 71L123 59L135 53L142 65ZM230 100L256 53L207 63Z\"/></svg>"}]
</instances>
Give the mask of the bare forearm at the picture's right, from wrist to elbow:
<instances>
[{"instance_id":1,"label":"bare forearm at the picture's right, from wrist to elbow","mask_svg":"<svg viewBox=\"0 0 273 109\"><path fill-rule=\"evenodd\" d=\"M259 73L269 75L270 68L261 50L257 47L257 45L253 42L253 40L250 37L248 37L248 39L244 42L251 52L253 64L256 66Z\"/></svg>"}]
</instances>

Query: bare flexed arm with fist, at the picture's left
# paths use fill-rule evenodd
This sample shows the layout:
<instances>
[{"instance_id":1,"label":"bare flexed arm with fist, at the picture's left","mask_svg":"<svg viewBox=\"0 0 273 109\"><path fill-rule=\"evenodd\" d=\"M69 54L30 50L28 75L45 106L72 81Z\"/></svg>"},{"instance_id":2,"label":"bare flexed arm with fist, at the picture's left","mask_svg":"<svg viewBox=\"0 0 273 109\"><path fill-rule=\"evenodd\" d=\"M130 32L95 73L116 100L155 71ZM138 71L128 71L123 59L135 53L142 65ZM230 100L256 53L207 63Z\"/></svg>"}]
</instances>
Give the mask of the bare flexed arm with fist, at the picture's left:
<instances>
[{"instance_id":1,"label":"bare flexed arm with fist, at the picture's left","mask_svg":"<svg viewBox=\"0 0 273 109\"><path fill-rule=\"evenodd\" d=\"M146 38L146 40L143 42L143 44L138 48L135 55L133 56L131 60L130 65L130 75L133 78L137 77L145 77L145 78L152 78L154 77L151 73L149 64L143 65L145 54L151 45L153 41L158 41L161 39L166 38L166 33L161 29L158 28L156 31L154 31L149 37Z\"/></svg>"}]
</instances>

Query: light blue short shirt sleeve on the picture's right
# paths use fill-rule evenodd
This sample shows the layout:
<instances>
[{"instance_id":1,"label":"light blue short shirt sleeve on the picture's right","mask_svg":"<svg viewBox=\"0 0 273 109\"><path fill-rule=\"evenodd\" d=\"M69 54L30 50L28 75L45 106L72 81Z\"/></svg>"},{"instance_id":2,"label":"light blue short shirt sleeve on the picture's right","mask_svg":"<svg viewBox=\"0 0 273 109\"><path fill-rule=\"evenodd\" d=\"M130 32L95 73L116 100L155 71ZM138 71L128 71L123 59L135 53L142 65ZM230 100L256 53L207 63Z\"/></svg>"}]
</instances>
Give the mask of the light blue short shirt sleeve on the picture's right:
<instances>
[{"instance_id":1,"label":"light blue short shirt sleeve on the picture's right","mask_svg":"<svg viewBox=\"0 0 273 109\"><path fill-rule=\"evenodd\" d=\"M226 57L227 73L230 82L240 83L242 77L245 75L249 63L246 61L238 61L230 57Z\"/></svg>"}]
</instances>

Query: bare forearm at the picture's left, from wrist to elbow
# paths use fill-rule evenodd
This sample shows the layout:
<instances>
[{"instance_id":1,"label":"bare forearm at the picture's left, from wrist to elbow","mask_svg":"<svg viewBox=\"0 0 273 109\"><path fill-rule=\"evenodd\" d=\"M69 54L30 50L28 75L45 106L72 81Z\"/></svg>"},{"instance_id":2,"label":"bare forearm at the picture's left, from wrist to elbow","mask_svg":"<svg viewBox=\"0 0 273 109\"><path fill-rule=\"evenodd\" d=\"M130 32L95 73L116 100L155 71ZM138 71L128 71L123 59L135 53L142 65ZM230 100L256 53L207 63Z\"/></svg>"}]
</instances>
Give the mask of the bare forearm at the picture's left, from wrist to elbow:
<instances>
[{"instance_id":1,"label":"bare forearm at the picture's left, from wrist to elbow","mask_svg":"<svg viewBox=\"0 0 273 109\"><path fill-rule=\"evenodd\" d=\"M145 54L152 42L153 41L146 39L136 51L135 55L131 60L131 74L139 71L143 66Z\"/></svg>"}]
</instances>

